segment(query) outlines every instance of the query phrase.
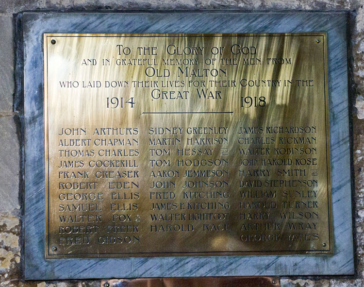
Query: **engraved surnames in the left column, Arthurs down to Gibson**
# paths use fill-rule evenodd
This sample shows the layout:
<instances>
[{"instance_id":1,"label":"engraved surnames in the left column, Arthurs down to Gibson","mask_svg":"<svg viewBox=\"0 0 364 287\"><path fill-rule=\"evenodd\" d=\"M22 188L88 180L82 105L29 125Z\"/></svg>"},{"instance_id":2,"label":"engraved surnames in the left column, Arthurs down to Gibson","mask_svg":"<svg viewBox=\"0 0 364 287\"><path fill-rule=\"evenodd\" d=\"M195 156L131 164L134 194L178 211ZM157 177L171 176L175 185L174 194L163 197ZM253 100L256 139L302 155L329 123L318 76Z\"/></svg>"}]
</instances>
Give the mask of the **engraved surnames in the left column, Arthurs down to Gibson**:
<instances>
[{"instance_id":1,"label":"engraved surnames in the left column, Arthurs down to Gibson","mask_svg":"<svg viewBox=\"0 0 364 287\"><path fill-rule=\"evenodd\" d=\"M103 236L98 238L101 245L141 243L139 133L136 127L99 129L98 135L105 137L100 140L98 154L105 158L101 166L106 170L95 174L107 182L111 211L111 217L105 220Z\"/></svg>"}]
</instances>

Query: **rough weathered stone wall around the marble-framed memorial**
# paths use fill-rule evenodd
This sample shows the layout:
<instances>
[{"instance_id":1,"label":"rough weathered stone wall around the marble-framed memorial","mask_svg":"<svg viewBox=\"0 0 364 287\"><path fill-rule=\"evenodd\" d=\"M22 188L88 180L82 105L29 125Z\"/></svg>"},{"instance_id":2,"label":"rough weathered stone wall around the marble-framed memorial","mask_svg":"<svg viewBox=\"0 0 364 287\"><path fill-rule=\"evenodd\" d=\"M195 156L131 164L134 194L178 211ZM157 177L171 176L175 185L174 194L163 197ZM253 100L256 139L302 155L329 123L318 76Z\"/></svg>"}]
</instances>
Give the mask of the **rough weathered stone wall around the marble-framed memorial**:
<instances>
[{"instance_id":1,"label":"rough weathered stone wall around the marble-framed memorial","mask_svg":"<svg viewBox=\"0 0 364 287\"><path fill-rule=\"evenodd\" d=\"M100 281L22 282L22 178L20 121L14 109L13 14L25 10L349 10L352 157L355 174L354 216L357 272L351 277L281 279L285 287L360 287L364 285L364 1L363 0L0 0L0 286L85 287Z\"/></svg>"}]
</instances>

